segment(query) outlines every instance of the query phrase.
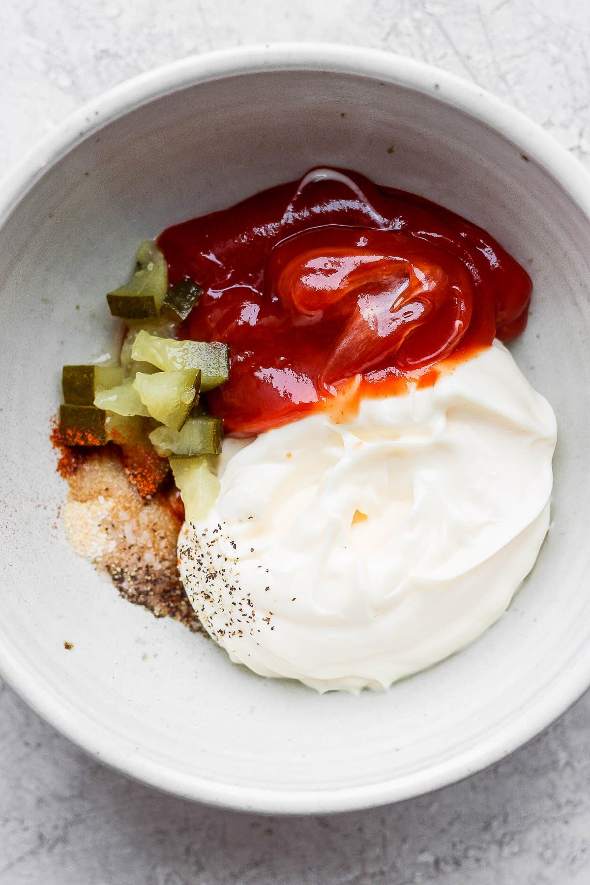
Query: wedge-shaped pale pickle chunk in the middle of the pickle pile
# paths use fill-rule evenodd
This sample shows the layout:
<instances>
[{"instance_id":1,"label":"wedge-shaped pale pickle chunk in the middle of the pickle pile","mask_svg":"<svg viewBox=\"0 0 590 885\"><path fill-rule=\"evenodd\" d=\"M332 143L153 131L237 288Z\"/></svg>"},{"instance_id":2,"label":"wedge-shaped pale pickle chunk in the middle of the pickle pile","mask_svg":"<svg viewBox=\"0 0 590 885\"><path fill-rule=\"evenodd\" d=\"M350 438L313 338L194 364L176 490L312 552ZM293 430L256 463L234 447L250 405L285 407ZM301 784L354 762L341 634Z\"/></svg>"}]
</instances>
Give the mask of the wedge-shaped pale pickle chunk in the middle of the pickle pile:
<instances>
[{"instance_id":1,"label":"wedge-shaped pale pickle chunk in the middle of the pickle pile","mask_svg":"<svg viewBox=\"0 0 590 885\"><path fill-rule=\"evenodd\" d=\"M180 430L199 396L201 373L197 369L179 372L138 372L134 388L152 418Z\"/></svg>"}]
</instances>

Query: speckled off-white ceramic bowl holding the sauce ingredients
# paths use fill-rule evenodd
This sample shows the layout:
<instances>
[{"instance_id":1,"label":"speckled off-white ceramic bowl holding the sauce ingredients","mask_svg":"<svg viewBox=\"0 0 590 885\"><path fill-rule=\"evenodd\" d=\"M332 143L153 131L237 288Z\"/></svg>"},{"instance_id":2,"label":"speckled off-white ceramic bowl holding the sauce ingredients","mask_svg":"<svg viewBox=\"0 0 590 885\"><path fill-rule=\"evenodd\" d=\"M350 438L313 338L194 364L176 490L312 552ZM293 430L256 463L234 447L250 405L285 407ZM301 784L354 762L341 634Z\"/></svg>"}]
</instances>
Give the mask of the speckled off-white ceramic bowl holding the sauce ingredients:
<instances>
[{"instance_id":1,"label":"speckled off-white ceramic bowl holding the sauce ingredients","mask_svg":"<svg viewBox=\"0 0 590 885\"><path fill-rule=\"evenodd\" d=\"M60 367L108 347L104 292L137 243L317 164L461 212L527 267L533 310L513 350L560 428L554 524L510 611L471 648L360 697L264 681L121 600L65 541L48 440ZM4 678L120 771L264 812L415 796L537 734L590 683L589 212L588 176L540 128L372 50L190 58L67 120L0 192Z\"/></svg>"}]
</instances>

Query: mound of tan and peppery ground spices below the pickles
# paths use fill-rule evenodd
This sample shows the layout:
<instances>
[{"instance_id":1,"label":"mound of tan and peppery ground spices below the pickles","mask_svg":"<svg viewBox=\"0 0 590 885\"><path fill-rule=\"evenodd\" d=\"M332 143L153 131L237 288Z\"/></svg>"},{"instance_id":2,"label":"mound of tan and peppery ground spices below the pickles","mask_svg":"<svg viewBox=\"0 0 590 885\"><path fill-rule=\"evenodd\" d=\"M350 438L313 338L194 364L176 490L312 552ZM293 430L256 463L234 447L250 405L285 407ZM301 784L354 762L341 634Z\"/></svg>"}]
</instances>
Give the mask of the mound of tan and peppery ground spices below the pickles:
<instances>
[{"instance_id":1,"label":"mound of tan and peppery ground spices below the pickles","mask_svg":"<svg viewBox=\"0 0 590 885\"><path fill-rule=\"evenodd\" d=\"M66 479L65 531L76 553L109 573L129 602L201 632L178 573L175 489L142 498L117 454L104 448L80 459Z\"/></svg>"}]
</instances>

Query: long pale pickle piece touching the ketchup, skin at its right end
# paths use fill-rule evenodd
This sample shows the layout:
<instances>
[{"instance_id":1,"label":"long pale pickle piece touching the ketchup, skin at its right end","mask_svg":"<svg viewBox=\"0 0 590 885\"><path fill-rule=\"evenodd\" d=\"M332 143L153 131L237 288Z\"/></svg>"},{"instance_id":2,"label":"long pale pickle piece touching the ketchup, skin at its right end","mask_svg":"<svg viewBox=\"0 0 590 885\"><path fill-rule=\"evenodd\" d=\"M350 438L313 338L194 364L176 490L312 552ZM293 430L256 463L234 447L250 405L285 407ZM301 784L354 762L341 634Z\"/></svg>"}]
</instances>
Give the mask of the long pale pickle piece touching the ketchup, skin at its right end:
<instances>
[{"instance_id":1,"label":"long pale pickle piece touching the ketchup, skin at its right end","mask_svg":"<svg viewBox=\"0 0 590 885\"><path fill-rule=\"evenodd\" d=\"M200 369L203 392L218 387L229 377L227 345L220 342L176 341L142 330L135 338L131 356L158 369Z\"/></svg>"}]
</instances>

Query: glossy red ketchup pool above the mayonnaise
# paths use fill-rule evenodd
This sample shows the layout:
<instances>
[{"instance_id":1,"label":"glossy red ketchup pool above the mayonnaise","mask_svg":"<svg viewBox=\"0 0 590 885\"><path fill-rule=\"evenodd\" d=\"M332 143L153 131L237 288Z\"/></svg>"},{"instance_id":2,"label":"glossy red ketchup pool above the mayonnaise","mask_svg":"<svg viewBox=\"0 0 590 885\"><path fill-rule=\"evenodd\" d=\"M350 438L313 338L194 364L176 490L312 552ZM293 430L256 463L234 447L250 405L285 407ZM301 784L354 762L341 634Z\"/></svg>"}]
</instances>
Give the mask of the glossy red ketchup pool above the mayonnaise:
<instances>
[{"instance_id":1,"label":"glossy red ketchup pool above the mayonnaise","mask_svg":"<svg viewBox=\"0 0 590 885\"><path fill-rule=\"evenodd\" d=\"M433 384L442 360L526 324L531 281L491 236L347 170L313 169L158 243L172 284L203 287L180 337L229 345L229 381L207 398L233 435Z\"/></svg>"}]
</instances>

